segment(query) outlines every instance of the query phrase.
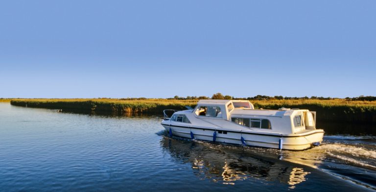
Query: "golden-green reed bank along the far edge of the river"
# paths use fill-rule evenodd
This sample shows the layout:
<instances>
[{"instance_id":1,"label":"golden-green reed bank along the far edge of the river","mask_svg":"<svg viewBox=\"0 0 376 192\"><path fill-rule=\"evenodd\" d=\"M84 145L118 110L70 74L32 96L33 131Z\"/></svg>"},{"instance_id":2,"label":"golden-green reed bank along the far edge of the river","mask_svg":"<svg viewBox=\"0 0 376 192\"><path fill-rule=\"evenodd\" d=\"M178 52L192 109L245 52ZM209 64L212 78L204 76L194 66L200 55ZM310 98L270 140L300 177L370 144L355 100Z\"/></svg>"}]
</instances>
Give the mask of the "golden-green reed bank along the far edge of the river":
<instances>
[{"instance_id":1,"label":"golden-green reed bank along the far edge of the river","mask_svg":"<svg viewBox=\"0 0 376 192\"><path fill-rule=\"evenodd\" d=\"M157 114L164 109L183 110L195 106L197 100L175 99L13 99L12 105L63 109L68 111L94 111L113 114ZM376 123L376 101L347 101L346 99L317 100L251 100L256 108L300 108L317 112L317 120Z\"/></svg>"}]
</instances>

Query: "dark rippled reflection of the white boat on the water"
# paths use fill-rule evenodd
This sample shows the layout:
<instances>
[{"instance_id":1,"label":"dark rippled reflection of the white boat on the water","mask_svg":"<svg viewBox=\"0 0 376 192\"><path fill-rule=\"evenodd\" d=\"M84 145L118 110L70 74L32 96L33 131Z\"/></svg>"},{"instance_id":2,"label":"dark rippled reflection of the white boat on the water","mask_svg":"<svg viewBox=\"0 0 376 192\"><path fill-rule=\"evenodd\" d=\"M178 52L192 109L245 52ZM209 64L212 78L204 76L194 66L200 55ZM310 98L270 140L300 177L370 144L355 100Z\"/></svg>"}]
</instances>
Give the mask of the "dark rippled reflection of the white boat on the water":
<instances>
[{"instance_id":1,"label":"dark rippled reflection of the white boat on the water","mask_svg":"<svg viewBox=\"0 0 376 192\"><path fill-rule=\"evenodd\" d=\"M190 163L194 174L202 180L230 185L235 185L235 181L250 179L279 181L293 189L310 174L305 166L280 160L280 151L277 149L243 149L235 145L168 137L163 137L161 145L177 161ZM291 156L289 158L293 159ZM310 167L315 167L319 162L312 163Z\"/></svg>"}]
</instances>

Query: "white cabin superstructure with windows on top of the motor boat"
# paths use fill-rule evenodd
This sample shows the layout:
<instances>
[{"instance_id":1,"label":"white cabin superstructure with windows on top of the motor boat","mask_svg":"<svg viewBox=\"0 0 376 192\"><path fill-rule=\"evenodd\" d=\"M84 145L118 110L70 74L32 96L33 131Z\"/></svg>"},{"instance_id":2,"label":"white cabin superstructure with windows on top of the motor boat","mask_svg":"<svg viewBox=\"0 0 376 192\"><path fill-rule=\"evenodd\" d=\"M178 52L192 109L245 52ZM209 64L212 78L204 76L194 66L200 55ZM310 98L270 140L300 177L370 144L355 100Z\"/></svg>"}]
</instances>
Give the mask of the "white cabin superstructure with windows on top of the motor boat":
<instances>
[{"instance_id":1,"label":"white cabin superstructure with windows on top of the motor boat","mask_svg":"<svg viewBox=\"0 0 376 192\"><path fill-rule=\"evenodd\" d=\"M210 123L218 125L218 120L226 120L255 131L303 133L316 129L316 112L286 108L255 109L247 100L200 100L192 113ZM189 121L187 117L186 121ZM229 127L228 123L225 124L224 127Z\"/></svg>"}]
</instances>

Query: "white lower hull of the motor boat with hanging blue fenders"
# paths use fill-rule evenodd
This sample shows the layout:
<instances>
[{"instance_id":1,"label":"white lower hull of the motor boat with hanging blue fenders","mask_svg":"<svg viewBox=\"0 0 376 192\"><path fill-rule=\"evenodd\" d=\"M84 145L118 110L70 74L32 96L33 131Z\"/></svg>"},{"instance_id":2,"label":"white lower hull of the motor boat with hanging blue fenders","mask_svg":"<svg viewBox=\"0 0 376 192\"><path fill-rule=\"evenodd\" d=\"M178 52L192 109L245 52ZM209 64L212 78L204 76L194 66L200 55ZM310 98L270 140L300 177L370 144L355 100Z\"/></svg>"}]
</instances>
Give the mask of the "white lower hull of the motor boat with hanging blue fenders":
<instances>
[{"instance_id":1,"label":"white lower hull of the motor boat with hanging blue fenders","mask_svg":"<svg viewBox=\"0 0 376 192\"><path fill-rule=\"evenodd\" d=\"M261 133L247 133L236 131L223 131L215 129L182 127L162 124L167 131L172 131L172 135L193 138L204 141L213 141L214 131L215 142L228 144L246 144L250 146L282 148L287 150L305 150L311 148L314 144L320 144L323 140L323 130L312 130L304 135L279 136ZM192 133L192 134L191 134ZM243 138L243 141L241 140ZM244 142L244 143L243 143Z\"/></svg>"}]
</instances>

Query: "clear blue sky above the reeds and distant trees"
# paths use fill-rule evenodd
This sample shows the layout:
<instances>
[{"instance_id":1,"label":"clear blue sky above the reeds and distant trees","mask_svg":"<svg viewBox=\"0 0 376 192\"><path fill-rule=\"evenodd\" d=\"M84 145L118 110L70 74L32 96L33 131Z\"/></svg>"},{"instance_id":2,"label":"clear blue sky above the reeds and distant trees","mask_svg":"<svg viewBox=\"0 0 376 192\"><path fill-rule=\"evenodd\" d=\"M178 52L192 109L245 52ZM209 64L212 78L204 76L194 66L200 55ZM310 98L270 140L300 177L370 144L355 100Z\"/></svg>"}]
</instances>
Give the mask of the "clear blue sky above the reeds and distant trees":
<instances>
[{"instance_id":1,"label":"clear blue sky above the reeds and distant trees","mask_svg":"<svg viewBox=\"0 0 376 192\"><path fill-rule=\"evenodd\" d=\"M0 1L0 97L353 97L375 84L375 0Z\"/></svg>"}]
</instances>

